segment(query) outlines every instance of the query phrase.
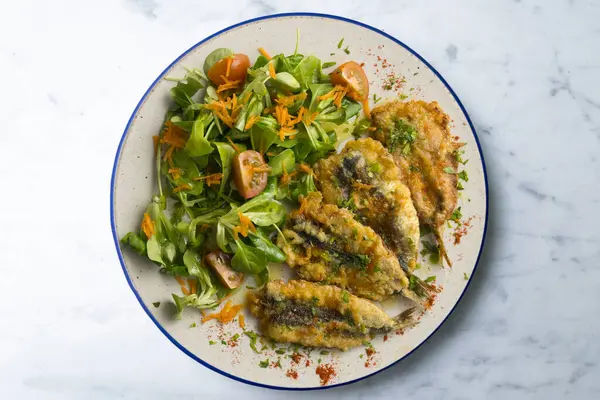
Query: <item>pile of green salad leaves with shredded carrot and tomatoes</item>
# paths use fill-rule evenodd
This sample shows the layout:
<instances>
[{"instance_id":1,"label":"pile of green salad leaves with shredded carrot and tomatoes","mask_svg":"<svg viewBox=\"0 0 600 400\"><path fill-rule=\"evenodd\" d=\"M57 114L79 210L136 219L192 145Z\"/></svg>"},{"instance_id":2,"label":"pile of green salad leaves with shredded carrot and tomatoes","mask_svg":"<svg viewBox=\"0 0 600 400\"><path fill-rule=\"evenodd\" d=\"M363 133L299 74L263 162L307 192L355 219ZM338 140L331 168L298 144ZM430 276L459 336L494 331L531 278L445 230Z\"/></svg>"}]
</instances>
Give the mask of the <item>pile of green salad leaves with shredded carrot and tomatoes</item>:
<instances>
[{"instance_id":1,"label":"pile of green salad leaves with shredded carrot and tomatoes","mask_svg":"<svg viewBox=\"0 0 600 400\"><path fill-rule=\"evenodd\" d=\"M176 80L174 106L154 137L157 194L140 229L121 239L161 272L197 282L173 294L178 316L236 290L207 265L208 253L231 254L228 267L257 286L268 281L269 262L285 262L272 239L287 207L316 190L308 165L351 136L348 121L361 110L315 56L260 55L252 66L244 57L216 49L203 70ZM241 163L250 149L257 163ZM250 179L238 179L244 174Z\"/></svg>"}]
</instances>

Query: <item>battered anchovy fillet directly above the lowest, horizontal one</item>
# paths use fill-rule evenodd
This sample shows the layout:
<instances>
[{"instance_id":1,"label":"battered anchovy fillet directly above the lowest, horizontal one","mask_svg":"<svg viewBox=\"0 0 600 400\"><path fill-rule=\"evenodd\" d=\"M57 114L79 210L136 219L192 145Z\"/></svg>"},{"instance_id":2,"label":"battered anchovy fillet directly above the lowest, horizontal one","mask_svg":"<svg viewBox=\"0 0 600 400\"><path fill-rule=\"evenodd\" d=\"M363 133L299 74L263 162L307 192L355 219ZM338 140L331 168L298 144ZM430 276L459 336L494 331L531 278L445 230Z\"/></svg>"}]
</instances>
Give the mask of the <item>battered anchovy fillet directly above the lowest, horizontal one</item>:
<instances>
[{"instance_id":1,"label":"battered anchovy fillet directly above the lowest, horizontal one","mask_svg":"<svg viewBox=\"0 0 600 400\"><path fill-rule=\"evenodd\" d=\"M371 300L400 293L421 305L431 304L431 286L405 272L379 235L350 211L323 204L319 192L301 200L277 245L302 279L333 284Z\"/></svg>"}]
</instances>

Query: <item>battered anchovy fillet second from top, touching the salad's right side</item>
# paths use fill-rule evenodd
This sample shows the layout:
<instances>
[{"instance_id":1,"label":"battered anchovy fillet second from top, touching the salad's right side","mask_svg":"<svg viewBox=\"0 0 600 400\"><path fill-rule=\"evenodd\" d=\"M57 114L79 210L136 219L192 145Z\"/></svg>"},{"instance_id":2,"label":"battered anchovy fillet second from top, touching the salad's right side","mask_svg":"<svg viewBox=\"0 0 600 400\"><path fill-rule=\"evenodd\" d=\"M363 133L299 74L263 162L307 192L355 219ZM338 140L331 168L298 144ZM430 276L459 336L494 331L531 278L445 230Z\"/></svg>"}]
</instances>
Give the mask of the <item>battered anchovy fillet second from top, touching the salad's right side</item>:
<instances>
[{"instance_id":1,"label":"battered anchovy fillet second from top, touching the salad's right side","mask_svg":"<svg viewBox=\"0 0 600 400\"><path fill-rule=\"evenodd\" d=\"M400 169L383 145L373 139L351 141L341 154L314 168L323 201L354 211L360 222L381 236L402 267L414 270L419 218Z\"/></svg>"}]
</instances>

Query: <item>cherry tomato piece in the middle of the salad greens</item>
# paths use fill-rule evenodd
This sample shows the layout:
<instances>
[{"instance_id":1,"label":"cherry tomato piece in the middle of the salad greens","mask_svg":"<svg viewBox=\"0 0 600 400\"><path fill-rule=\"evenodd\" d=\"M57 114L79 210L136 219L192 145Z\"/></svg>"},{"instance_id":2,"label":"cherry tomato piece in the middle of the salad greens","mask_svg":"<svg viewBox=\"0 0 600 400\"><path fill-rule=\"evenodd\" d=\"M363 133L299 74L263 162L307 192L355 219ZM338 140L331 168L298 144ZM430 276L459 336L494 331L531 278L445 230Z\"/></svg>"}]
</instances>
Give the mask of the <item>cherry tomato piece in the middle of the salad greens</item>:
<instances>
[{"instance_id":1,"label":"cherry tomato piece in the middle of the salad greens","mask_svg":"<svg viewBox=\"0 0 600 400\"><path fill-rule=\"evenodd\" d=\"M233 159L233 180L243 198L249 199L265 190L269 167L259 152L246 150Z\"/></svg>"}]
</instances>

